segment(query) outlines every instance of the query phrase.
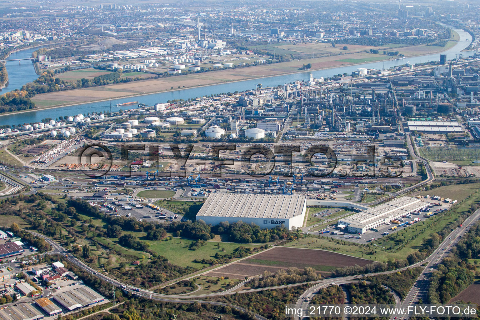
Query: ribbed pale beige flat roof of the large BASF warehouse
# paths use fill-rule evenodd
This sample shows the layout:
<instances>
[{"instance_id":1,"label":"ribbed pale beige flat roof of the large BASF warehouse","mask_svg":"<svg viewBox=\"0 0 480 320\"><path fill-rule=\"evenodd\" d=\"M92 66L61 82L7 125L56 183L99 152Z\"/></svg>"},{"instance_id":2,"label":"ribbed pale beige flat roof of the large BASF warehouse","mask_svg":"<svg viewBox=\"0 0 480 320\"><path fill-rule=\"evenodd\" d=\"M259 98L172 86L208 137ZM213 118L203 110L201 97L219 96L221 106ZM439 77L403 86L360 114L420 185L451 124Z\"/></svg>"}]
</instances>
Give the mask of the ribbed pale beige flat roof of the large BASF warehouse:
<instances>
[{"instance_id":1,"label":"ribbed pale beige flat roof of the large BASF warehouse","mask_svg":"<svg viewBox=\"0 0 480 320\"><path fill-rule=\"evenodd\" d=\"M212 193L197 217L289 219L302 214L305 201L302 195Z\"/></svg>"}]
</instances>

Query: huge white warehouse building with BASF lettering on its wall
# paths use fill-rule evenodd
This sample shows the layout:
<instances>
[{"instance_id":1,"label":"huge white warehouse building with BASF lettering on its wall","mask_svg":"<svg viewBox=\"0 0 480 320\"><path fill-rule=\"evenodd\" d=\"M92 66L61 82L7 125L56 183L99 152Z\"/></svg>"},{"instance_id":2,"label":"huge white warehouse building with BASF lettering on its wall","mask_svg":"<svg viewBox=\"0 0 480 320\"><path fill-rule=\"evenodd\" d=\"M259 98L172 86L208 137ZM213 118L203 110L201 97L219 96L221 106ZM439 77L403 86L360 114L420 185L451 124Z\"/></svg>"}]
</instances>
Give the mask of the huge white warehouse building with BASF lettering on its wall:
<instances>
[{"instance_id":1,"label":"huge white warehouse building with BASF lettering on its wall","mask_svg":"<svg viewBox=\"0 0 480 320\"><path fill-rule=\"evenodd\" d=\"M262 229L277 225L300 228L305 218L306 199L302 195L212 193L197 213L197 220L212 225L241 220Z\"/></svg>"}]
</instances>

